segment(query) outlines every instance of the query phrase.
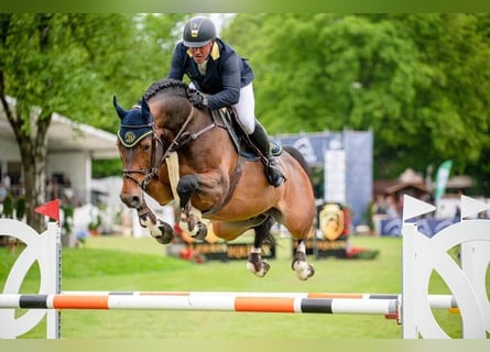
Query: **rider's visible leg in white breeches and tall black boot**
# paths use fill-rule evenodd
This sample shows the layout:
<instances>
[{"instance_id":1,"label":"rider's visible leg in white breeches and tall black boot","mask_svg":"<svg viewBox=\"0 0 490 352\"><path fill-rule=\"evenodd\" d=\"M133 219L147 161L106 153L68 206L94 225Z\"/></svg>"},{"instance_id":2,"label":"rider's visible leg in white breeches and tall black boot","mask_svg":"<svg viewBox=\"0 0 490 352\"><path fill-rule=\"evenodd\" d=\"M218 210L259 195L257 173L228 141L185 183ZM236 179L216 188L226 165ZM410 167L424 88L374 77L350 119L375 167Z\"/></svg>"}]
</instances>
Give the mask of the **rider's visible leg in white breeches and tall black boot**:
<instances>
[{"instance_id":1,"label":"rider's visible leg in white breeches and tall black boot","mask_svg":"<svg viewBox=\"0 0 490 352\"><path fill-rule=\"evenodd\" d=\"M255 99L252 84L240 89L240 100L235 106L235 109L250 140L268 160L265 175L268 176L269 183L274 187L281 186L281 184L285 182L284 172L281 164L272 156L268 133L255 119Z\"/></svg>"}]
</instances>

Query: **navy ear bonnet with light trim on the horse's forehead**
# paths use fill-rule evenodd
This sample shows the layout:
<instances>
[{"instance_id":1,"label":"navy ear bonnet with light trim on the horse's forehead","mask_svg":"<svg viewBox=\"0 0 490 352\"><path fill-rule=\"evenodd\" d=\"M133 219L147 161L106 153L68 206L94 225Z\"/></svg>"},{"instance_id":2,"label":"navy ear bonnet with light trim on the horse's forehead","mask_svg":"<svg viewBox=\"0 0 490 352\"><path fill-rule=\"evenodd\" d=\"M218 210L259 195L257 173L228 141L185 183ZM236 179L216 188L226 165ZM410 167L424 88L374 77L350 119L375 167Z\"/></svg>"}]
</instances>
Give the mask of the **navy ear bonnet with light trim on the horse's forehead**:
<instances>
[{"instance_id":1,"label":"navy ear bonnet with light trim on the horse's forehead","mask_svg":"<svg viewBox=\"0 0 490 352\"><path fill-rule=\"evenodd\" d=\"M118 139L126 147L134 147L142 139L153 133L153 116L144 112L140 106L134 106L121 119Z\"/></svg>"}]
</instances>

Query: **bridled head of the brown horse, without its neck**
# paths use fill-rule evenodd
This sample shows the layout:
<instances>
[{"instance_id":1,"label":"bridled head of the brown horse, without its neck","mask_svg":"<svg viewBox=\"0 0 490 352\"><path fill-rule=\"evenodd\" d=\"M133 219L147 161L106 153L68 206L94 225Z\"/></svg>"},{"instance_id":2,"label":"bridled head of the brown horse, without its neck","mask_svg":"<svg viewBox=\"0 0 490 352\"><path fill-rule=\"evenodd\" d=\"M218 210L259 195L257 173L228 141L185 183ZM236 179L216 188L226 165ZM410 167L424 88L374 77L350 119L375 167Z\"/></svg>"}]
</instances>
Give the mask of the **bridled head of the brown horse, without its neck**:
<instances>
[{"instance_id":1,"label":"bridled head of the brown horse, without its neck","mask_svg":"<svg viewBox=\"0 0 490 352\"><path fill-rule=\"evenodd\" d=\"M155 177L163 148L159 147L155 122L144 97L141 105L130 110L121 108L116 97L113 105L121 120L117 145L122 161L124 187L120 197L128 207L139 208L143 201L141 190Z\"/></svg>"}]
</instances>

